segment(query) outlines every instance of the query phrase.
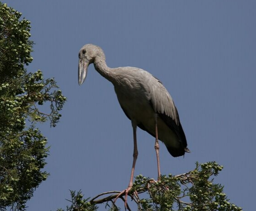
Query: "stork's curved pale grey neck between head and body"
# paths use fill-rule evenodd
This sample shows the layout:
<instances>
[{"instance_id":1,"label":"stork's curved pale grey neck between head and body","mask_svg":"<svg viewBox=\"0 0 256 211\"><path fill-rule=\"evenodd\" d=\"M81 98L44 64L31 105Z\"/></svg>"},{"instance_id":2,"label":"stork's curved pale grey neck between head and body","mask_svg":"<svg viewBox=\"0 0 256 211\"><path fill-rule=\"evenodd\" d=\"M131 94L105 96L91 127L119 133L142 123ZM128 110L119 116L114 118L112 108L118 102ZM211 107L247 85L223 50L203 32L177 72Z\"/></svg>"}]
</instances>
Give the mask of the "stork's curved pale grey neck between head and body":
<instances>
[{"instance_id":1,"label":"stork's curved pale grey neck between head and body","mask_svg":"<svg viewBox=\"0 0 256 211\"><path fill-rule=\"evenodd\" d=\"M94 68L100 75L112 82L114 71L108 67L104 56L96 57L94 60Z\"/></svg>"}]
</instances>

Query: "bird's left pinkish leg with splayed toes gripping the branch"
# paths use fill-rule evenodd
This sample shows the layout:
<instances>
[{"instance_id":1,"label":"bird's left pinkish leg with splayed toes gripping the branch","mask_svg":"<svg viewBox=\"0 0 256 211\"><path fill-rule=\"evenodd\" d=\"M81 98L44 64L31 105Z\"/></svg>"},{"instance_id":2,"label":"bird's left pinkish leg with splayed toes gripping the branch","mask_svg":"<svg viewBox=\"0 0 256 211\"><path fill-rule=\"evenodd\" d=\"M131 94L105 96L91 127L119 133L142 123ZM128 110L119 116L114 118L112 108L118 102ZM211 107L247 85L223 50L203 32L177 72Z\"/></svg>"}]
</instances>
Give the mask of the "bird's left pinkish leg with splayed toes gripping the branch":
<instances>
[{"instance_id":1,"label":"bird's left pinkish leg with splayed toes gripping the branch","mask_svg":"<svg viewBox=\"0 0 256 211\"><path fill-rule=\"evenodd\" d=\"M124 206L125 206L125 208L127 207L128 193L131 190L131 188L133 187L133 175L134 175L136 160L137 160L137 157L138 157L137 136L136 136L137 125L135 125L133 123L132 123L132 125L133 125L133 166L132 166L131 178L130 178L128 188L126 188L124 191L120 192L114 200L114 202L116 202L118 197L120 197L125 192L125 197L124 197Z\"/></svg>"}]
</instances>

